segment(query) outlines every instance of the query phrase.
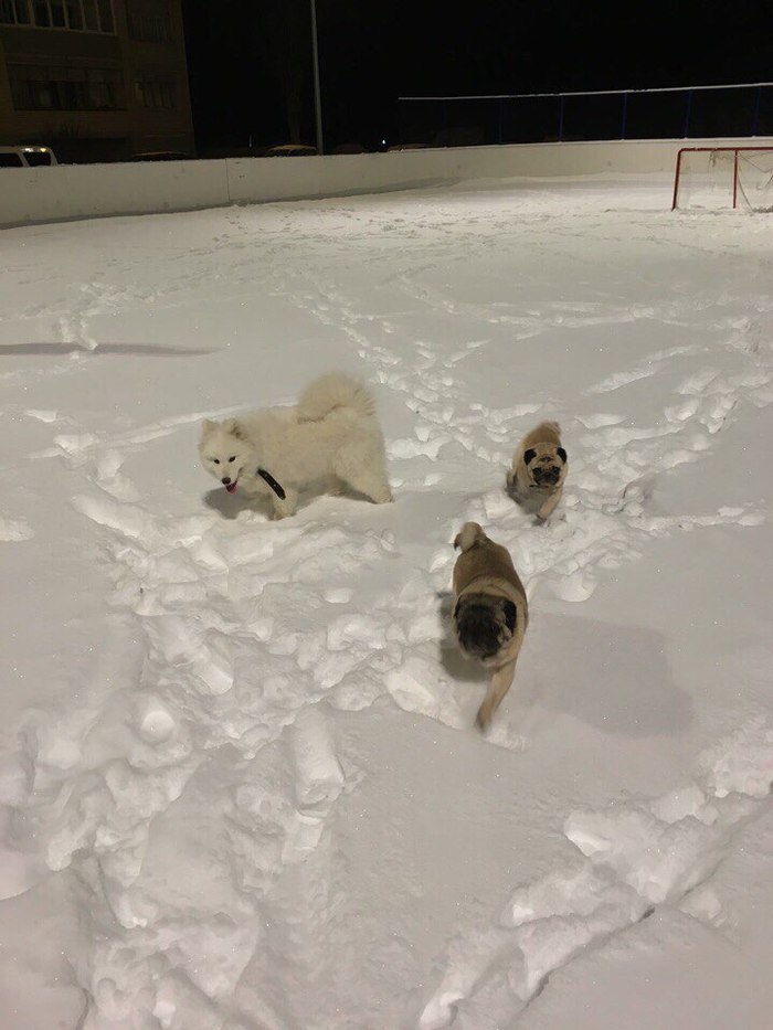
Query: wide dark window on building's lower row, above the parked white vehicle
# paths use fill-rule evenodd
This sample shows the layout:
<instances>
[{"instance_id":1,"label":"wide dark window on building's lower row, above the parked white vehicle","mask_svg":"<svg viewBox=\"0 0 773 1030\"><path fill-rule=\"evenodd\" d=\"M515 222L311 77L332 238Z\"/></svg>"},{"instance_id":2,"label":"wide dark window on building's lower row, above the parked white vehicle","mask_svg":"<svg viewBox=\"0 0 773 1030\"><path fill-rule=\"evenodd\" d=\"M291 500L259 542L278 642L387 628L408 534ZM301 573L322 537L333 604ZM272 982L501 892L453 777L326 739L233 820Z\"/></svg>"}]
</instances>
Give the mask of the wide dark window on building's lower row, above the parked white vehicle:
<instances>
[{"instance_id":1,"label":"wide dark window on building's lower row, above the parked white vehicle","mask_svg":"<svg viewBox=\"0 0 773 1030\"><path fill-rule=\"evenodd\" d=\"M17 110L117 110L125 107L117 68L9 65Z\"/></svg>"}]
</instances>

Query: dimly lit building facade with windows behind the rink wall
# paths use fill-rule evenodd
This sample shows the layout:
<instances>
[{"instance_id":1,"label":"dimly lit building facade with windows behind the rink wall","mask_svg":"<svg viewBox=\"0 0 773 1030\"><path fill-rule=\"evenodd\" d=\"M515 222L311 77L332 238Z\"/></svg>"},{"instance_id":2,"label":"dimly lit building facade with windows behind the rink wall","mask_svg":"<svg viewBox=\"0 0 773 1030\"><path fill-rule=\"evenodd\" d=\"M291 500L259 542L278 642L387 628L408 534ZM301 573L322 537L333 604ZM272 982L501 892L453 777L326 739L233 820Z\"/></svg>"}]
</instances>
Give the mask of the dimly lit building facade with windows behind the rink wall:
<instances>
[{"instance_id":1,"label":"dimly lit building facade with windows behind the rink wall","mask_svg":"<svg viewBox=\"0 0 773 1030\"><path fill-rule=\"evenodd\" d=\"M180 0L0 0L0 145L193 156Z\"/></svg>"}]
</instances>

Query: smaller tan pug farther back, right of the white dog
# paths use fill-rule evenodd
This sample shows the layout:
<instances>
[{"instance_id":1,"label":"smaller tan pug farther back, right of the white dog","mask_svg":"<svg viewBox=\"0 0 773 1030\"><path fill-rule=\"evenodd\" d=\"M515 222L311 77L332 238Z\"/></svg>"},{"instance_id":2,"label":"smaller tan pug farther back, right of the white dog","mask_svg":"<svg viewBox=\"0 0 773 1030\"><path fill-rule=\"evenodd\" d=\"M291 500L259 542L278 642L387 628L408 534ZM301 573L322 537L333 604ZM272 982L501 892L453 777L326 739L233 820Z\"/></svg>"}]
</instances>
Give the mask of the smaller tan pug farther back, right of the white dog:
<instances>
[{"instance_id":1,"label":"smaller tan pug farther back, right of the white dog","mask_svg":"<svg viewBox=\"0 0 773 1030\"><path fill-rule=\"evenodd\" d=\"M544 522L561 500L569 464L558 422L541 422L528 433L507 470L507 492L525 511Z\"/></svg>"}]
</instances>

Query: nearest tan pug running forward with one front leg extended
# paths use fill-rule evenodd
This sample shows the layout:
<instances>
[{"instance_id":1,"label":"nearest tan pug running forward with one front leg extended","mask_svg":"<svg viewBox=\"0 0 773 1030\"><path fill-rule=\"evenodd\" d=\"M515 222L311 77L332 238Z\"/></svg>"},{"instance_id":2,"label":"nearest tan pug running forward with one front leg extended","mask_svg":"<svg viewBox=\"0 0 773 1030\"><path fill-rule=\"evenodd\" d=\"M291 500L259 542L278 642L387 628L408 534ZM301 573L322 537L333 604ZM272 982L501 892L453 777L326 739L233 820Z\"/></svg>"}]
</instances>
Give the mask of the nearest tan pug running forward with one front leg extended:
<instances>
[{"instance_id":1,"label":"nearest tan pug running forward with one front leg extended","mask_svg":"<svg viewBox=\"0 0 773 1030\"><path fill-rule=\"evenodd\" d=\"M491 683L478 711L481 730L510 689L523 643L529 606L507 549L489 540L477 522L466 522L454 540L462 553L454 566L454 630L468 658L491 669Z\"/></svg>"}]
</instances>

